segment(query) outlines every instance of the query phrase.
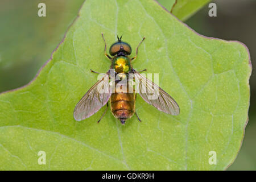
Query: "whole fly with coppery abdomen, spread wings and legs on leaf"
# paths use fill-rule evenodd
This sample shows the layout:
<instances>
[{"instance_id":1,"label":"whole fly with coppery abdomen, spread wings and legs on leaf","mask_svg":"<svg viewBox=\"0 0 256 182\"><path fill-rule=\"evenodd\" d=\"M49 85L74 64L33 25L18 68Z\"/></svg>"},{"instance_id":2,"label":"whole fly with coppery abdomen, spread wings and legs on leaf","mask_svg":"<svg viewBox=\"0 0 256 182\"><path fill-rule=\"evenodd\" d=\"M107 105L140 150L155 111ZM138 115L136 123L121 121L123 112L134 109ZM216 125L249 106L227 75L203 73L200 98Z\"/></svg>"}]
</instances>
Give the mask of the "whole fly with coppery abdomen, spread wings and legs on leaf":
<instances>
[{"instance_id":1,"label":"whole fly with coppery abdomen, spread wings and legs on leaf","mask_svg":"<svg viewBox=\"0 0 256 182\"><path fill-rule=\"evenodd\" d=\"M104 39L103 34L102 38ZM146 101L148 104L151 104L152 106L156 107L156 109L163 111L167 114L179 114L179 106L177 105L175 100L166 92L164 92L163 89L159 88L158 85L155 85L154 82L148 80L139 72L135 71L135 69L133 69L131 65L131 61L136 59L138 55L138 47L143 42L144 38L142 39L141 43L139 43L136 49L135 57L132 58L129 57L129 55L131 54L130 45L122 42L121 38L118 38L118 41L110 47L109 52L110 55L113 57L110 57L106 53L106 42L104 39L105 56L108 57L110 61L112 61L110 69L114 69L114 76L119 77L119 79L114 80L114 85L116 86L114 87L114 89L111 89L109 86L109 70L106 75L101 78L101 80L98 80L96 84L94 84L92 88L90 88L88 92L86 92L86 94L76 105L73 113L76 121L81 121L82 119L90 117L98 110L100 110L102 106L107 104L107 107L104 111L105 114L106 110L108 109L109 100L112 114L114 115L114 117L118 118L122 124L124 124L128 118L131 118L134 113L137 115L137 113L135 112L136 93L133 87L131 87L129 84L130 79L133 79L135 80L135 82L138 83L137 91L139 92L143 100ZM133 74L134 77L130 78L129 74ZM101 92L99 91L99 88ZM102 92L102 90L104 92ZM157 94L157 97L152 97L152 95L155 94ZM104 116L104 114L102 115L102 117ZM139 119L138 115L137 118ZM100 120L98 122L100 122ZM139 119L139 121L141 121L141 119Z\"/></svg>"}]
</instances>

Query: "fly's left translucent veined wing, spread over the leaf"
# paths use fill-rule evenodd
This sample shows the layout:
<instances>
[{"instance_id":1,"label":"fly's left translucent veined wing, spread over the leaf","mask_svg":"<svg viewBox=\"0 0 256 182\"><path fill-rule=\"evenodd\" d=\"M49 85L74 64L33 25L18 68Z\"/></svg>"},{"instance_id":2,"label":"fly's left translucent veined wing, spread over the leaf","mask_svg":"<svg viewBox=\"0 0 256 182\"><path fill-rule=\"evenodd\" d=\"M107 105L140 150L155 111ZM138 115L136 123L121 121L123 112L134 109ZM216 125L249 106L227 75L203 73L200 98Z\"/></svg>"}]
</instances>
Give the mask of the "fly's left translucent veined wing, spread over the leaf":
<instances>
[{"instance_id":1,"label":"fly's left translucent veined wing, spread over the leaf","mask_svg":"<svg viewBox=\"0 0 256 182\"><path fill-rule=\"evenodd\" d=\"M110 96L109 75L105 74L77 103L73 113L76 121L89 118L96 113L109 101Z\"/></svg>"}]
</instances>

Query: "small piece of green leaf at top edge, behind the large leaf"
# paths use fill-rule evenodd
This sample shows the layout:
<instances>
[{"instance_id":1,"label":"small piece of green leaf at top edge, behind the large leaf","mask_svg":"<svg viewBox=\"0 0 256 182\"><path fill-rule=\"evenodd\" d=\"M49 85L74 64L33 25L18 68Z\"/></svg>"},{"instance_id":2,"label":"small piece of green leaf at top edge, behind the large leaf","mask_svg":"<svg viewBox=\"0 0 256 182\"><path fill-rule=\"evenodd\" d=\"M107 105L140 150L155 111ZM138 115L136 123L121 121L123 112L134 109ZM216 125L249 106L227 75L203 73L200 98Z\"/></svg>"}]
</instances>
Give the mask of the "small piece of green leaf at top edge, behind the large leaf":
<instances>
[{"instance_id":1,"label":"small piece of green leaf at top edge, behind the large leaf","mask_svg":"<svg viewBox=\"0 0 256 182\"><path fill-rule=\"evenodd\" d=\"M184 22L208 2L210 0L176 0L171 13Z\"/></svg>"}]
</instances>

